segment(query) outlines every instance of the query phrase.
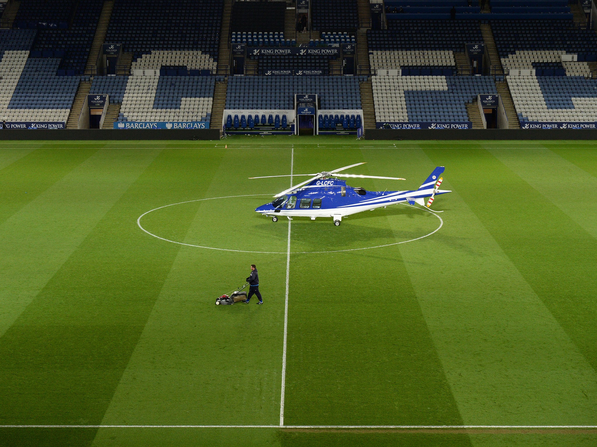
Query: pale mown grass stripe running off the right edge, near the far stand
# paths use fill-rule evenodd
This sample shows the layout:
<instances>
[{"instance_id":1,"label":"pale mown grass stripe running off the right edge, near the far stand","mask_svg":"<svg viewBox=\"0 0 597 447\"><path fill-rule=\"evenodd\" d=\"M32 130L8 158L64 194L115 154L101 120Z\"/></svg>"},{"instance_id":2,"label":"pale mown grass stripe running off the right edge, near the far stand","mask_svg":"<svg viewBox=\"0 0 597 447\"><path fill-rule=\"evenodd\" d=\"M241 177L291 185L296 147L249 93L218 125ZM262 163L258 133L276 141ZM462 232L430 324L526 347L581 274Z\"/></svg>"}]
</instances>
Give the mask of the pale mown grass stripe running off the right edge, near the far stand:
<instances>
[{"instance_id":1,"label":"pale mown grass stripe running off the right edge, near the far stand","mask_svg":"<svg viewBox=\"0 0 597 447\"><path fill-rule=\"evenodd\" d=\"M488 151L500 162L597 238L597 178L545 147L524 153L508 148ZM597 164L597 158L595 159ZM534 206L534 198L525 198Z\"/></svg>"}]
</instances>

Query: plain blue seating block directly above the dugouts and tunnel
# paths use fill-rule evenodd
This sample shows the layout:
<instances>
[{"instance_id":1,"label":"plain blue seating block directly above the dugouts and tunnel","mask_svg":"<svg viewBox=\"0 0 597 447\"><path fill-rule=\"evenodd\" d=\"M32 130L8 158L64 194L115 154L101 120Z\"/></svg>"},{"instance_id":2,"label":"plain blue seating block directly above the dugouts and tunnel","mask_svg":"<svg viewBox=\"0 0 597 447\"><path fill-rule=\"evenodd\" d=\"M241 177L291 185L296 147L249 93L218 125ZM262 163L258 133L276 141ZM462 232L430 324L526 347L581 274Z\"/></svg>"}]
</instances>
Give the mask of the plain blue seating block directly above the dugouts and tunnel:
<instances>
[{"instance_id":1,"label":"plain blue seating block directly above the dugouts and tunnel","mask_svg":"<svg viewBox=\"0 0 597 447\"><path fill-rule=\"evenodd\" d=\"M321 109L360 109L358 76L233 76L227 109L292 109L295 94L317 94Z\"/></svg>"}]
</instances>

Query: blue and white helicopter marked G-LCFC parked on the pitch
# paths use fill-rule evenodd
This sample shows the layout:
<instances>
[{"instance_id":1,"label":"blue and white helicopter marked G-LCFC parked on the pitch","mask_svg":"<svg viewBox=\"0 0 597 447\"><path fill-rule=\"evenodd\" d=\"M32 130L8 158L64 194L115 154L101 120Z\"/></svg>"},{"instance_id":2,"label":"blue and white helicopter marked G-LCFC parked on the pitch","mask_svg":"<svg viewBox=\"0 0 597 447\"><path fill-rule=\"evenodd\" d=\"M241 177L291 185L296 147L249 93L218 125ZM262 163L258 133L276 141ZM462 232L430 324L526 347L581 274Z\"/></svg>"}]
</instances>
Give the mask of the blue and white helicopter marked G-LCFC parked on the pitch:
<instances>
[{"instance_id":1,"label":"blue and white helicopter marked G-LCFC parked on the pitch","mask_svg":"<svg viewBox=\"0 0 597 447\"><path fill-rule=\"evenodd\" d=\"M426 206L430 207L436 195L451 192L439 189L439 185L443 180L440 175L444 172L444 166L436 167L416 191L365 191L363 188L350 187L346 184L346 181L337 178L404 180L404 178L399 177L338 174L340 171L361 164L365 163L351 164L330 172L293 175L309 176L310 179L274 195L275 200L257 207L255 211L264 216L270 216L273 222L277 222L279 216L287 216L288 219L301 216L309 217L312 221L315 221L316 218L333 218L334 225L338 226L344 216L396 203L408 202L411 205L417 203L425 206L425 198L429 197ZM267 175L250 178L272 177L290 177L290 175Z\"/></svg>"}]
</instances>

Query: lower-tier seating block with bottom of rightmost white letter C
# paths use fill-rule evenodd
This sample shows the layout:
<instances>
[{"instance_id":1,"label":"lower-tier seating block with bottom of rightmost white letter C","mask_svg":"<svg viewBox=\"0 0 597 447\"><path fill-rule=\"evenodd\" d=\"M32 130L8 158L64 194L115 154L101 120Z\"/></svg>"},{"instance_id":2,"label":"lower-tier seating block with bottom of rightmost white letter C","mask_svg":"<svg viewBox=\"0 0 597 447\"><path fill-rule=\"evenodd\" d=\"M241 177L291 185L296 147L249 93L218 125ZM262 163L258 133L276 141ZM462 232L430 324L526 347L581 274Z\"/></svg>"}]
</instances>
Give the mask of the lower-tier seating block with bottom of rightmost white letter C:
<instances>
[{"instance_id":1,"label":"lower-tier seating block with bottom of rightmost white letter C","mask_svg":"<svg viewBox=\"0 0 597 447\"><path fill-rule=\"evenodd\" d=\"M597 80L582 76L507 76L521 126L597 122Z\"/></svg>"}]
</instances>

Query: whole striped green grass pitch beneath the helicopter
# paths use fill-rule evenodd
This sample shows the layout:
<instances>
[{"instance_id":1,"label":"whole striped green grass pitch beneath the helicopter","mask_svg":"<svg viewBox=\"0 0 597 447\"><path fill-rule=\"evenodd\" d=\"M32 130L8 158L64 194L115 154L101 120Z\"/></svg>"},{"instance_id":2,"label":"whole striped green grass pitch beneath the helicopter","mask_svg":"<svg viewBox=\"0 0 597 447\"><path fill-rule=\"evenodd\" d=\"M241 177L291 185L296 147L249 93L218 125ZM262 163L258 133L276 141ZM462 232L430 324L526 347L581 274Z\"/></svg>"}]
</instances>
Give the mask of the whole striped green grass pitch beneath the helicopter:
<instances>
[{"instance_id":1,"label":"whole striped green grass pitch beneath the helicopter","mask_svg":"<svg viewBox=\"0 0 597 447\"><path fill-rule=\"evenodd\" d=\"M224 148L227 145L227 148ZM0 144L0 428L30 446L593 446L596 429L296 429L280 421L290 179L351 172L398 205L291 223L285 426L597 426L597 144ZM370 190L395 182L349 182ZM250 197L229 197L245 194ZM137 226L144 216L147 231ZM393 244L369 250L337 250ZM211 250L194 246L209 246ZM272 253L250 253L272 252ZM304 253L330 252L330 253ZM257 264L264 305L214 306Z\"/></svg>"}]
</instances>

